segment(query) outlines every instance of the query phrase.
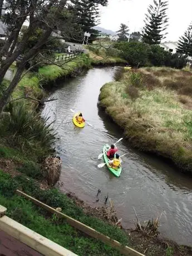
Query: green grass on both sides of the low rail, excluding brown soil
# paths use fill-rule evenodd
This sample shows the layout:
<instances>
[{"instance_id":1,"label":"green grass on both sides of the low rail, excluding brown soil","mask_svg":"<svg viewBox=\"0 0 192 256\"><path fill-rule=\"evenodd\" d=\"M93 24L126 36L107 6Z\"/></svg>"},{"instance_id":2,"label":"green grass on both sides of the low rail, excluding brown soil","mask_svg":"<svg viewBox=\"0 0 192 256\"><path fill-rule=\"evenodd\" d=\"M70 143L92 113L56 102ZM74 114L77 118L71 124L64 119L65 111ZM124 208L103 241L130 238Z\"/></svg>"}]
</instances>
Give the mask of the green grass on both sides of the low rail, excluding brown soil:
<instances>
[{"instance_id":1,"label":"green grass on both sides of the low rail, excluding brown soil","mask_svg":"<svg viewBox=\"0 0 192 256\"><path fill-rule=\"evenodd\" d=\"M81 208L66 195L61 194L57 189L47 191L41 190L33 180L27 180L24 176L11 178L0 170L0 204L8 208L8 216L26 225L48 239L53 240L63 247L66 247L79 255L120 255L114 249L98 242L95 239L87 238L77 230L58 220L55 216L48 215L44 210L36 208L29 201L14 195L14 190L22 189L27 194L52 206L61 207L62 212L75 218L97 231L109 235L122 244L129 245L127 235L119 228L83 213ZM45 218L45 215L47 218Z\"/></svg>"}]
</instances>

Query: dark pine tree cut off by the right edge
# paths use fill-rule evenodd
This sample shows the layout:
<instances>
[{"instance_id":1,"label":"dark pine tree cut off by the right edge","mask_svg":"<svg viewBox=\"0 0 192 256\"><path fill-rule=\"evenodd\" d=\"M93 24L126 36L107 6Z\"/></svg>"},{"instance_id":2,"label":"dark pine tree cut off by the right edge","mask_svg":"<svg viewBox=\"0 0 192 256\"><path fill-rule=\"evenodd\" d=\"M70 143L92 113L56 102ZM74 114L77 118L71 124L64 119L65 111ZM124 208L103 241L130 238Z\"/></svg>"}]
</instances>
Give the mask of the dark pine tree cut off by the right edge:
<instances>
[{"instance_id":1,"label":"dark pine tree cut off by the right edge","mask_svg":"<svg viewBox=\"0 0 192 256\"><path fill-rule=\"evenodd\" d=\"M192 56L192 23L185 31L184 35L179 38L177 52Z\"/></svg>"}]
</instances>

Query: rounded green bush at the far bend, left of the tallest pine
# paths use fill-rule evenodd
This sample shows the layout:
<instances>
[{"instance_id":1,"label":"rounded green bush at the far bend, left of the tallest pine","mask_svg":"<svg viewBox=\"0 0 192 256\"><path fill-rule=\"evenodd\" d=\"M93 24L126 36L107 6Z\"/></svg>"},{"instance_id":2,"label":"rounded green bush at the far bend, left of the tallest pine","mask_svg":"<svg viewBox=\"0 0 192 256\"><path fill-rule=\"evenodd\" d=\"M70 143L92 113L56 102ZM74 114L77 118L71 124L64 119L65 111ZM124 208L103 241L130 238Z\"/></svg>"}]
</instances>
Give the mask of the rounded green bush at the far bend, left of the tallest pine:
<instances>
[{"instance_id":1,"label":"rounded green bush at the far bend, left of the tallest pine","mask_svg":"<svg viewBox=\"0 0 192 256\"><path fill-rule=\"evenodd\" d=\"M120 42L115 48L121 51L121 56L131 66L145 66L149 60L150 46L141 42Z\"/></svg>"}]
</instances>

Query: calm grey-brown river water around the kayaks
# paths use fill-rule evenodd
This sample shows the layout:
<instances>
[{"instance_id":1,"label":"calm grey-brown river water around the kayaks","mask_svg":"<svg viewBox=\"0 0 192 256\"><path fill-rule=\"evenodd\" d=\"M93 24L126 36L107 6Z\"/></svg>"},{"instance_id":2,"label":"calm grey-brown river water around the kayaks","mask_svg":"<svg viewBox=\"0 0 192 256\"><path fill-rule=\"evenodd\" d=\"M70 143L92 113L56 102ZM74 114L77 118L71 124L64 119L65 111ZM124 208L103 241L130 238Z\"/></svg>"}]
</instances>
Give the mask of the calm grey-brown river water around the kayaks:
<instances>
[{"instance_id":1,"label":"calm grey-brown river water around the kayaks","mask_svg":"<svg viewBox=\"0 0 192 256\"><path fill-rule=\"evenodd\" d=\"M117 146L123 159L122 173L116 178L106 167L99 169L97 160L104 144L117 141L122 131L98 109L100 88L112 81L116 67L93 68L81 77L63 81L47 102L42 114L55 120L60 141L56 148L62 158L61 190L71 191L96 206L103 205L105 196L114 202L125 228L134 227L135 207L140 220L161 218L163 237L180 244L192 244L192 179L181 175L170 165L154 156L142 154L122 140ZM115 100L115 99L114 99ZM82 111L86 125L79 129L72 124L73 113ZM97 190L101 190L96 203Z\"/></svg>"}]
</instances>

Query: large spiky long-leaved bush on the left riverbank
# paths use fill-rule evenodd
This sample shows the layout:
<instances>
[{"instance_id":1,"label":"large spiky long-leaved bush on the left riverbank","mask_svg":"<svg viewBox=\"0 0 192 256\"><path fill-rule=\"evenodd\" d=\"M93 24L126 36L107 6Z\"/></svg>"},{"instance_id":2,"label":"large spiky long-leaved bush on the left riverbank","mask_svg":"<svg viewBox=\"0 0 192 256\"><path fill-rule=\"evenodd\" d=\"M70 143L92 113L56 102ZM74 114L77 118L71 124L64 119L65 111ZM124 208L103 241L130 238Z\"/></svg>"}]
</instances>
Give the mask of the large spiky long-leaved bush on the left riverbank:
<instances>
[{"instance_id":1,"label":"large spiky long-leaved bush on the left riverbank","mask_svg":"<svg viewBox=\"0 0 192 256\"><path fill-rule=\"evenodd\" d=\"M10 115L2 121L2 125L7 127L8 142L22 151L26 147L37 151L41 147L43 155L52 152L56 134L51 128L52 123L47 124L48 119L42 119L36 111L28 110L24 102L9 104L7 110Z\"/></svg>"}]
</instances>

